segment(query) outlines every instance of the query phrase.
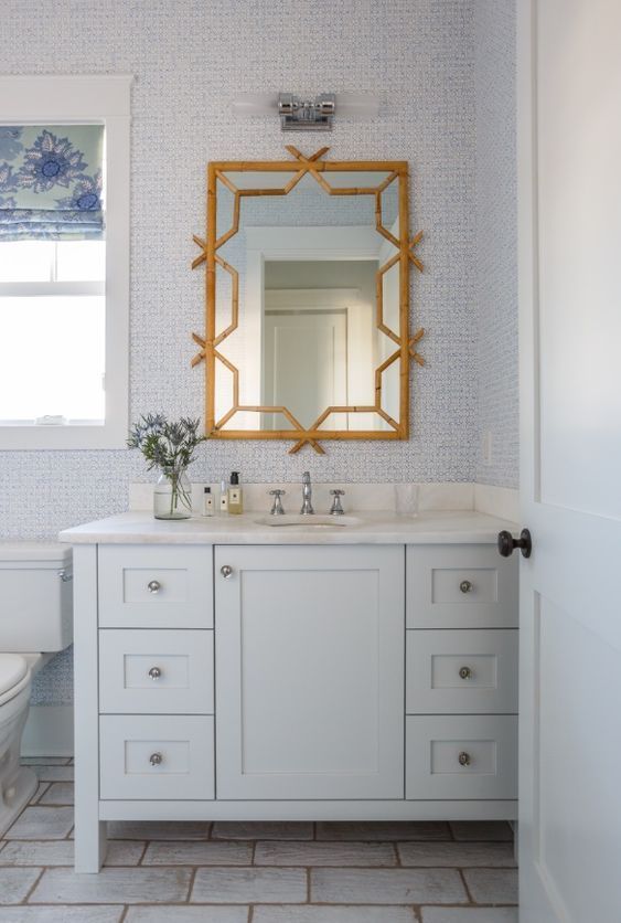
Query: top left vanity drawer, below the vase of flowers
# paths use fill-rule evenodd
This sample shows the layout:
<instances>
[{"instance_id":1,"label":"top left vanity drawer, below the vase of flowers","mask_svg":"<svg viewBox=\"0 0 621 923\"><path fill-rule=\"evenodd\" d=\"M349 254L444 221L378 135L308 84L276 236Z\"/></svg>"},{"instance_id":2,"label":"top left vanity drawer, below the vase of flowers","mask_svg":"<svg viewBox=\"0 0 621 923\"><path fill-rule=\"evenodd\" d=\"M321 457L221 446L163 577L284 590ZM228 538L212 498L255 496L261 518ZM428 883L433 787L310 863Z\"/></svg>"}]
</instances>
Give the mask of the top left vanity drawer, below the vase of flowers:
<instances>
[{"instance_id":1,"label":"top left vanity drawer, below the vase of flowers","mask_svg":"<svg viewBox=\"0 0 621 923\"><path fill-rule=\"evenodd\" d=\"M212 548L100 545L99 625L211 628Z\"/></svg>"}]
</instances>

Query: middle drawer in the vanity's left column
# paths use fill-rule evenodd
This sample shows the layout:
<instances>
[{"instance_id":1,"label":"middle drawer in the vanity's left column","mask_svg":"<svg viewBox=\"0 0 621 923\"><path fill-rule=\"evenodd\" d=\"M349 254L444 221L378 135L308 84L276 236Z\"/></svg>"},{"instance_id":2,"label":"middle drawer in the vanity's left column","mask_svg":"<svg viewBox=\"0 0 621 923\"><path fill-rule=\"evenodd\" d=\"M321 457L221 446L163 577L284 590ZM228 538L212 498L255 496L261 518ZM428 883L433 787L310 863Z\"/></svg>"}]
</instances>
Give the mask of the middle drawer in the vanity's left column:
<instances>
[{"instance_id":1,"label":"middle drawer in the vanity's left column","mask_svg":"<svg viewBox=\"0 0 621 923\"><path fill-rule=\"evenodd\" d=\"M213 632L99 632L99 711L213 714Z\"/></svg>"}]
</instances>

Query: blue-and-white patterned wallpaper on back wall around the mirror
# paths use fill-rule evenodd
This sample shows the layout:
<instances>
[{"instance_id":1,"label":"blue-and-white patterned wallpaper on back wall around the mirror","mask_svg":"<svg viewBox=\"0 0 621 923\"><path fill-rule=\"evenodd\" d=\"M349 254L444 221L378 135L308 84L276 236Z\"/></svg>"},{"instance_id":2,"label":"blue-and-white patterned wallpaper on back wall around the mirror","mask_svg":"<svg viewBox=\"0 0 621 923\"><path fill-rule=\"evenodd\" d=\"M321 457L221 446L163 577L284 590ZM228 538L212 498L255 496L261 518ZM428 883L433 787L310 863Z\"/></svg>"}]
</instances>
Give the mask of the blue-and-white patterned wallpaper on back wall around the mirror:
<instances>
[{"instance_id":1,"label":"blue-and-white patterned wallpaper on back wall around the mirror","mask_svg":"<svg viewBox=\"0 0 621 923\"><path fill-rule=\"evenodd\" d=\"M482 199L484 191L477 183L477 152L485 135L475 77L481 91L493 87L483 86L475 55L475 24L484 31L475 2L56 0L50 14L41 0L3 0L4 72L136 75L132 417L156 410L197 415L203 407L202 373L189 364L190 331L202 329L203 276L189 266L196 253L192 233L204 233L210 159L280 158L286 142L304 151L328 142L338 159L410 161L413 231L426 234L419 250L426 273L413 274L413 322L428 331L421 348L427 365L413 363L410 441L331 444L325 457L306 449L291 457L277 442L212 442L193 479L220 479L235 468L248 480L292 480L307 466L315 480L474 479L481 428L477 299L484 296L488 310L495 297L477 283L477 192ZM500 41L511 28L510 0L490 0L485 17L496 6L504 11L494 15ZM236 120L231 114L237 92L256 89L366 89L379 94L385 107L371 123L336 119L328 141L283 136L276 118ZM513 304L504 299L503 308ZM503 329L510 326L504 321ZM496 397L485 404L485 420L502 422L504 399ZM510 454L505 463L510 470ZM148 479L140 458L124 450L0 453L0 535L7 539L53 537L120 511L128 482ZM499 468L493 482L502 481ZM34 701L71 700L69 656L43 672Z\"/></svg>"}]
</instances>

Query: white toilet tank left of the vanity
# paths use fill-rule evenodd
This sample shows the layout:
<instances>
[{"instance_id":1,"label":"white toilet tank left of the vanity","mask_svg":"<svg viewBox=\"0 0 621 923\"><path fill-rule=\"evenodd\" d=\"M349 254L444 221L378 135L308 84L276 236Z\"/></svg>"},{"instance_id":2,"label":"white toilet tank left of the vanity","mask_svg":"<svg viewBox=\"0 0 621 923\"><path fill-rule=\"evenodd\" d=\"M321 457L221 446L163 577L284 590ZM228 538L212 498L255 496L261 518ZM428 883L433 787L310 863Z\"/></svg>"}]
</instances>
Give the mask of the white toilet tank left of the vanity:
<instances>
[{"instance_id":1,"label":"white toilet tank left of the vanity","mask_svg":"<svg viewBox=\"0 0 621 923\"><path fill-rule=\"evenodd\" d=\"M63 650L73 640L72 549L0 542L0 651Z\"/></svg>"}]
</instances>

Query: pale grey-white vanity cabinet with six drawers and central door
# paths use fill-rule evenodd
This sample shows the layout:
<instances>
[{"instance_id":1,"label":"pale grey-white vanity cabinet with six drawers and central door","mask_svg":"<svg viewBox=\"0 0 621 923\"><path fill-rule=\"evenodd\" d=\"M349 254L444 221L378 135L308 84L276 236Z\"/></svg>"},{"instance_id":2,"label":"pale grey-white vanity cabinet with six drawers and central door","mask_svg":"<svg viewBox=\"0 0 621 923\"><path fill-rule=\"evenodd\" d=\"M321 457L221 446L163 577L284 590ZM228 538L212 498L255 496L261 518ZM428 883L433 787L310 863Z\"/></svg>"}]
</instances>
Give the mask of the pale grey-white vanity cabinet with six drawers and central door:
<instances>
[{"instance_id":1,"label":"pale grey-white vanity cabinet with six drawers and central door","mask_svg":"<svg viewBox=\"0 0 621 923\"><path fill-rule=\"evenodd\" d=\"M517 562L489 532L174 528L74 548L78 871L107 820L516 816Z\"/></svg>"}]
</instances>

